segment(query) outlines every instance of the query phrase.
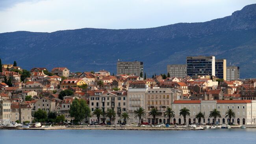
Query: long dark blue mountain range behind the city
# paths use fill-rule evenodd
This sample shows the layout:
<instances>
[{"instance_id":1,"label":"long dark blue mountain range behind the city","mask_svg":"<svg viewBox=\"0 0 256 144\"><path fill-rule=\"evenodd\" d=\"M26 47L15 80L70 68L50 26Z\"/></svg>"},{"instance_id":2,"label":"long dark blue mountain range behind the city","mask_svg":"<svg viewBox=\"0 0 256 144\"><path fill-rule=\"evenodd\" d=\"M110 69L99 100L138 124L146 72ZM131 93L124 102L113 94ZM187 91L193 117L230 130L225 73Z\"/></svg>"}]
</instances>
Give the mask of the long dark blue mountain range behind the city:
<instances>
[{"instance_id":1,"label":"long dark blue mountain range behind the city","mask_svg":"<svg viewBox=\"0 0 256 144\"><path fill-rule=\"evenodd\" d=\"M68 67L73 72L105 69L117 60L142 61L147 75L167 73L168 64L186 57L213 55L240 67L241 78L256 77L256 4L208 22L178 23L146 29L83 28L38 33L0 33L2 63L23 69Z\"/></svg>"}]
</instances>

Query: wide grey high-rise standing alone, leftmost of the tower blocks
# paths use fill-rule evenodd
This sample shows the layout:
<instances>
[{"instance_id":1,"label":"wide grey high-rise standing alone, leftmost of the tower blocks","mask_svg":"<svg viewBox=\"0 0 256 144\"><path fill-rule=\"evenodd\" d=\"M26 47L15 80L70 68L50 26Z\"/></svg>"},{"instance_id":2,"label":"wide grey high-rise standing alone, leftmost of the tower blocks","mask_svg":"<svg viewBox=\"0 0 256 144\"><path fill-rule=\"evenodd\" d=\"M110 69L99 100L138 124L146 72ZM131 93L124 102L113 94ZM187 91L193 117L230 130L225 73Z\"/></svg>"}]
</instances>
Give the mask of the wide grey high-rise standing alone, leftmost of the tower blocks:
<instances>
[{"instance_id":1,"label":"wide grey high-rise standing alone, leftmost of the tower blocks","mask_svg":"<svg viewBox=\"0 0 256 144\"><path fill-rule=\"evenodd\" d=\"M143 62L117 62L117 75L135 75L143 73Z\"/></svg>"}]
</instances>

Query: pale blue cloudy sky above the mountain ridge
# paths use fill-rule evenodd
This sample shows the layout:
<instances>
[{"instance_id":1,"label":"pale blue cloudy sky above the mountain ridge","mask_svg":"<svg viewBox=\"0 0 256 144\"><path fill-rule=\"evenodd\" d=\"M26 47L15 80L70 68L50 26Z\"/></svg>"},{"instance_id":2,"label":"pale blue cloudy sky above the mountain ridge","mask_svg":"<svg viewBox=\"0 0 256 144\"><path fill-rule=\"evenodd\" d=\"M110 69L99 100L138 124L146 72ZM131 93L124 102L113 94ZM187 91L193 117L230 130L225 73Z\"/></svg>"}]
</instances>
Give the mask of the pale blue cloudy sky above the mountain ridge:
<instances>
[{"instance_id":1,"label":"pale blue cloudy sky above the mountain ridge","mask_svg":"<svg viewBox=\"0 0 256 144\"><path fill-rule=\"evenodd\" d=\"M206 22L256 0L0 0L0 33Z\"/></svg>"}]
</instances>

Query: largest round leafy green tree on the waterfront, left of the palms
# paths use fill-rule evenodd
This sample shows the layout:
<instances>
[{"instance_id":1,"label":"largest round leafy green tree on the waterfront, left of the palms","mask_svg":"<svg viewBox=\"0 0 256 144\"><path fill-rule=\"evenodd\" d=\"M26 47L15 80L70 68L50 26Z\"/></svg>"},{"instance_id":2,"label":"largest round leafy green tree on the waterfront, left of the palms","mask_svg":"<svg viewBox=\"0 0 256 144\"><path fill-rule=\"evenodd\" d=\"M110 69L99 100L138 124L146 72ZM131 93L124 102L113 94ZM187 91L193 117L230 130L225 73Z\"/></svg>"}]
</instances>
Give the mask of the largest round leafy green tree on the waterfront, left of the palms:
<instances>
[{"instance_id":1,"label":"largest round leafy green tree on the waterfront, left of the palms","mask_svg":"<svg viewBox=\"0 0 256 144\"><path fill-rule=\"evenodd\" d=\"M75 120L80 122L87 117L91 117L91 110L87 105L86 101L83 99L74 99L72 104L70 105L69 110L70 116L74 117Z\"/></svg>"}]
</instances>

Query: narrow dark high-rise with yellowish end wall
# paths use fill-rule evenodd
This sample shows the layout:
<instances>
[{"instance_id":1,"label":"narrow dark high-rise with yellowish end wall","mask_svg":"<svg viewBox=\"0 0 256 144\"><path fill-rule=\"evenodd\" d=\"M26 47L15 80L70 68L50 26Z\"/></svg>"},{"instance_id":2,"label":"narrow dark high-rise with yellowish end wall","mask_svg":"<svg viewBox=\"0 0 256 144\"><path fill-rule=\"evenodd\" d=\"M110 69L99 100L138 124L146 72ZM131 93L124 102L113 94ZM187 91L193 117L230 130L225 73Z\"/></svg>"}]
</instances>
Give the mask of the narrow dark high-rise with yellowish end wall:
<instances>
[{"instance_id":1,"label":"narrow dark high-rise with yellowish end wall","mask_svg":"<svg viewBox=\"0 0 256 144\"><path fill-rule=\"evenodd\" d=\"M215 60L215 77L226 80L226 60Z\"/></svg>"}]
</instances>

